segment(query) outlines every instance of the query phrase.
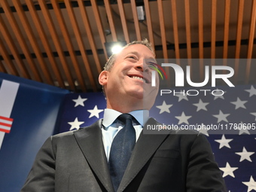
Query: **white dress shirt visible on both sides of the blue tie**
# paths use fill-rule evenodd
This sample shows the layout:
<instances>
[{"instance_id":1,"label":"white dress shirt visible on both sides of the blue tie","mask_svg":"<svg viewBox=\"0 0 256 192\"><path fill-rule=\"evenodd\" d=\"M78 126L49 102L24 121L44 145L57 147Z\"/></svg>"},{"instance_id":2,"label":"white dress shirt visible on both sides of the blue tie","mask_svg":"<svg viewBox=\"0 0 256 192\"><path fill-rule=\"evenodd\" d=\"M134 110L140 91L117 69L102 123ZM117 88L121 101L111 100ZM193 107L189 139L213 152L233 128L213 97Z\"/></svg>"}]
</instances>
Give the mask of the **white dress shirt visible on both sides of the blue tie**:
<instances>
[{"instance_id":1,"label":"white dress shirt visible on both sides of the blue tie","mask_svg":"<svg viewBox=\"0 0 256 192\"><path fill-rule=\"evenodd\" d=\"M119 111L115 111L114 109L106 108L104 110L104 117L102 122L102 140L105 149L105 154L107 160L109 158L109 153L111 149L111 144L113 142L114 136L123 129L124 124L117 120L117 117L122 114ZM139 139L139 135L142 133L142 128L144 124L147 122L149 118L149 111L148 110L137 110L131 111L129 114L133 115L136 119L133 122L133 127L136 131L136 142Z\"/></svg>"}]
</instances>

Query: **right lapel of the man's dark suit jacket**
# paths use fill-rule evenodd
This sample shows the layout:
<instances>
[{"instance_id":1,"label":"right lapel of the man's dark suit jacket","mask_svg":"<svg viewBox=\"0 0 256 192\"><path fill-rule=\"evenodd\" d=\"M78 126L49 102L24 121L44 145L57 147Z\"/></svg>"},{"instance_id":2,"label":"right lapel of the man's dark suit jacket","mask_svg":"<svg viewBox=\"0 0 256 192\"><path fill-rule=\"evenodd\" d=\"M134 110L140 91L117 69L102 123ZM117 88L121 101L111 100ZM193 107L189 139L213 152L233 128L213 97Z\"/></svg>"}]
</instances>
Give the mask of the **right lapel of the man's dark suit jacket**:
<instances>
[{"instance_id":1,"label":"right lapel of the man's dark suit jacket","mask_svg":"<svg viewBox=\"0 0 256 192\"><path fill-rule=\"evenodd\" d=\"M145 127L147 124L157 124L157 121L150 118ZM157 151L157 148L161 145L163 140L166 139L166 136L168 136L168 134L150 135L143 133L139 136L126 169L129 171L124 173L117 191L123 191L127 185L130 184L130 181L132 181L142 167L145 166L145 163L147 163L154 152Z\"/></svg>"}]
</instances>

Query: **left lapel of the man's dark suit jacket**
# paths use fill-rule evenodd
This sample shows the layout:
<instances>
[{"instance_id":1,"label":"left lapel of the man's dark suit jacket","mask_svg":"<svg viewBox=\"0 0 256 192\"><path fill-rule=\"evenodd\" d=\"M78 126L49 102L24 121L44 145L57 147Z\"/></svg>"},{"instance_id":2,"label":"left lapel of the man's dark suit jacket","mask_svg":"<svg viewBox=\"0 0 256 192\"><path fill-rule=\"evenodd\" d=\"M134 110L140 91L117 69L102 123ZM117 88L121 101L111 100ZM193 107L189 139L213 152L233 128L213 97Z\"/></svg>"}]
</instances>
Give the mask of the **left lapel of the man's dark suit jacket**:
<instances>
[{"instance_id":1,"label":"left lapel of the man's dark suit jacket","mask_svg":"<svg viewBox=\"0 0 256 192\"><path fill-rule=\"evenodd\" d=\"M102 182L106 190L114 191L102 142L101 126L102 120L98 120L93 125L76 131L75 138L99 181Z\"/></svg>"}]
</instances>

